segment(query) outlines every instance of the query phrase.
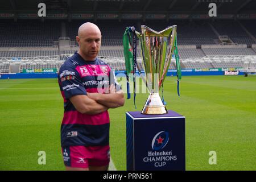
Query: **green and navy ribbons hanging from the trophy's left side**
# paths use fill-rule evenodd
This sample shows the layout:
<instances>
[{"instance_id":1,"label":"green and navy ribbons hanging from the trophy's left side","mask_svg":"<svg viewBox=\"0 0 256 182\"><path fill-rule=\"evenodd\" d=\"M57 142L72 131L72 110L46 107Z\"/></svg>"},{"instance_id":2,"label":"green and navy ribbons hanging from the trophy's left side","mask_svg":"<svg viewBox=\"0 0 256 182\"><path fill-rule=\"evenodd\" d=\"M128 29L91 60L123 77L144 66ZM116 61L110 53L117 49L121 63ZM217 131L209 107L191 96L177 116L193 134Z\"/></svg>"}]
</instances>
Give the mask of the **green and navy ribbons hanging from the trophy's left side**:
<instances>
[{"instance_id":1,"label":"green and navy ribbons hanging from the trophy's left side","mask_svg":"<svg viewBox=\"0 0 256 182\"><path fill-rule=\"evenodd\" d=\"M129 74L133 74L133 82L134 82L134 106L135 104L135 98L136 98L136 64L137 64L137 58L136 58L136 52L137 52L137 36L135 34L135 28L134 27L126 27L125 33L123 34L123 51L125 55L125 68L126 68L126 86L127 86L127 99L131 98L130 94L130 84L129 84Z\"/></svg>"}]
</instances>

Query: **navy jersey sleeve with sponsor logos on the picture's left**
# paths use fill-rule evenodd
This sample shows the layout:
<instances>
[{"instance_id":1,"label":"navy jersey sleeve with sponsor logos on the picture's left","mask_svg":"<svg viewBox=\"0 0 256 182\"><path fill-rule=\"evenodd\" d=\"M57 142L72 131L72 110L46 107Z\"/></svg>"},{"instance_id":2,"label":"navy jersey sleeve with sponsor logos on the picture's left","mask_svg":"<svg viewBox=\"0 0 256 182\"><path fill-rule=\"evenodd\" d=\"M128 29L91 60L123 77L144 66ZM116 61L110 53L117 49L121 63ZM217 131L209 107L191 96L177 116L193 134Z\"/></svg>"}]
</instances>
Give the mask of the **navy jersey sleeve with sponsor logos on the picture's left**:
<instances>
[{"instance_id":1,"label":"navy jersey sleeve with sponsor logos on the picture's left","mask_svg":"<svg viewBox=\"0 0 256 182\"><path fill-rule=\"evenodd\" d=\"M82 84L79 73L75 68L63 67L58 74L60 89L63 91L66 99L77 95L86 95L84 85Z\"/></svg>"}]
</instances>

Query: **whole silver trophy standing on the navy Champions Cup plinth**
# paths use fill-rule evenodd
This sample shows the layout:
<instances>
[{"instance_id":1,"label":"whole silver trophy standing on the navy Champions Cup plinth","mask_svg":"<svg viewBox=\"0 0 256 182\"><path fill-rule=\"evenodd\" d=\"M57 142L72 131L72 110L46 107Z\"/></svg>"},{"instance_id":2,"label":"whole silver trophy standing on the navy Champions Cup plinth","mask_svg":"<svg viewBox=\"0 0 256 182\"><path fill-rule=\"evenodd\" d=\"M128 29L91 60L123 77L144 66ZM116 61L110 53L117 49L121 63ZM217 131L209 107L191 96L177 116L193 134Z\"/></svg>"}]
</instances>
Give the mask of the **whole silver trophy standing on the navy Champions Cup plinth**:
<instances>
[{"instance_id":1,"label":"whole silver trophy standing on the navy Champions Cup plinth","mask_svg":"<svg viewBox=\"0 0 256 182\"><path fill-rule=\"evenodd\" d=\"M136 32L141 45L142 64L137 63L139 73L144 70L144 83L150 96L142 109L142 114L166 114L167 109L159 96L159 90L163 86L164 78L171 63L175 49L177 26L170 26L157 32L142 25L141 33ZM143 68L142 66L143 65Z\"/></svg>"}]
</instances>

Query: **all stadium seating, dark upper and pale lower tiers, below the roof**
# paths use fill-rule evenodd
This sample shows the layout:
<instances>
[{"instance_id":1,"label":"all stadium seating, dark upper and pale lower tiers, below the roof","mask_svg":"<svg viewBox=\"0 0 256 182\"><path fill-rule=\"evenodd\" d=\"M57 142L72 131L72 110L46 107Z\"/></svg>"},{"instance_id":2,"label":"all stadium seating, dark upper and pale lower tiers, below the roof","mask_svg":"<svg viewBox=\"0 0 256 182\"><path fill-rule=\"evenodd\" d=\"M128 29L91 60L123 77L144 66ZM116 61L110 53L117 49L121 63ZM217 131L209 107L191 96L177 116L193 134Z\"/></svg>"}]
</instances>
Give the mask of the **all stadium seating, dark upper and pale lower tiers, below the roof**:
<instances>
[{"instance_id":1,"label":"all stadium seating, dark upper and pale lower tiers, below the roof","mask_svg":"<svg viewBox=\"0 0 256 182\"><path fill-rule=\"evenodd\" d=\"M65 59L59 59L60 55L72 55L77 51L75 41L77 29L86 20L72 20L63 22L59 20L0 20L0 72L8 73L10 63L17 57L21 57L19 70L36 68L60 68ZM232 20L146 20L138 22L131 20L98 20L96 24L102 32L102 48L98 56L110 64L115 69L125 69L123 59L122 36L127 26L135 26L137 31L141 31L141 23L156 31L176 24L177 43L181 68L247 68L255 67L256 43L248 34L256 36L255 21L243 20L240 22ZM6 26L6 24L8 26ZM63 24L65 26L63 26ZM247 32L242 28L246 28ZM214 29L220 35L228 35L237 44L220 46L218 37ZM61 30L65 28L65 30ZM63 33L64 32L64 33ZM72 45L76 46L59 49L56 45L60 36L68 36ZM247 46L247 45L249 46ZM191 45L191 46L189 46ZM208 47L205 47L210 45ZM57 56L57 58L46 58ZM8 57L1 60L1 57ZM30 57L30 58L29 58ZM36 57L36 58L35 58ZM137 49L138 64L142 64L141 51L138 44ZM25 59L26 58L26 59ZM170 69L176 69L175 61L171 61Z\"/></svg>"}]
</instances>

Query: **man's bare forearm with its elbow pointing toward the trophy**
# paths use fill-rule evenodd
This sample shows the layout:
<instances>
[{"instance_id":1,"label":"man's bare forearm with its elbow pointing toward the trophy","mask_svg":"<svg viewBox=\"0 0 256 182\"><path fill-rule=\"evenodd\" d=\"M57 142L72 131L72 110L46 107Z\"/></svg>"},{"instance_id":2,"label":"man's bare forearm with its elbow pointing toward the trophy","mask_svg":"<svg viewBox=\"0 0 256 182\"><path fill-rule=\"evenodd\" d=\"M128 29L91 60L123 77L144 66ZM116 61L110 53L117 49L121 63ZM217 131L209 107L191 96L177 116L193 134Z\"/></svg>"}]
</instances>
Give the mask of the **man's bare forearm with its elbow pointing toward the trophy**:
<instances>
[{"instance_id":1,"label":"man's bare forearm with its elbow pointing toward the trophy","mask_svg":"<svg viewBox=\"0 0 256 182\"><path fill-rule=\"evenodd\" d=\"M88 93L88 97L109 108L120 107L125 103L122 92L115 92L110 94Z\"/></svg>"}]
</instances>

